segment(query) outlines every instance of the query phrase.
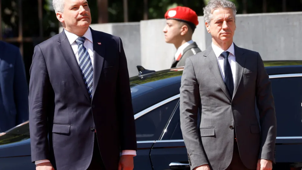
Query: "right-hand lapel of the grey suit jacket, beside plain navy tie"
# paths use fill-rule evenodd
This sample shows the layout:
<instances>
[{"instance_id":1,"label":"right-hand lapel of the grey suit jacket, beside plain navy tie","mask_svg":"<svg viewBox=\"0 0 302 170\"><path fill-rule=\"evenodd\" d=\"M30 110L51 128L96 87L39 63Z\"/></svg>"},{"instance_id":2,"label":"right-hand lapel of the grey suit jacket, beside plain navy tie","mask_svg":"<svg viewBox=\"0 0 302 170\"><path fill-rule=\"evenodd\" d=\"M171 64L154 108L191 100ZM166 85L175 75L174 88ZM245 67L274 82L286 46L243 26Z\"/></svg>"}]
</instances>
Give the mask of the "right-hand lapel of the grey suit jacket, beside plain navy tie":
<instances>
[{"instance_id":1,"label":"right-hand lapel of the grey suit jacket, beside plain navy tie","mask_svg":"<svg viewBox=\"0 0 302 170\"><path fill-rule=\"evenodd\" d=\"M234 83L234 93L233 93L233 98L236 95L236 92L238 90L240 81L241 81L241 77L243 74L243 68L245 66L245 62L246 62L246 57L243 55L243 51L237 47L234 43L234 51L235 51L235 58L236 58L236 80Z\"/></svg>"}]
</instances>

